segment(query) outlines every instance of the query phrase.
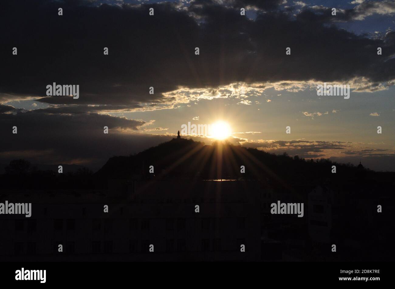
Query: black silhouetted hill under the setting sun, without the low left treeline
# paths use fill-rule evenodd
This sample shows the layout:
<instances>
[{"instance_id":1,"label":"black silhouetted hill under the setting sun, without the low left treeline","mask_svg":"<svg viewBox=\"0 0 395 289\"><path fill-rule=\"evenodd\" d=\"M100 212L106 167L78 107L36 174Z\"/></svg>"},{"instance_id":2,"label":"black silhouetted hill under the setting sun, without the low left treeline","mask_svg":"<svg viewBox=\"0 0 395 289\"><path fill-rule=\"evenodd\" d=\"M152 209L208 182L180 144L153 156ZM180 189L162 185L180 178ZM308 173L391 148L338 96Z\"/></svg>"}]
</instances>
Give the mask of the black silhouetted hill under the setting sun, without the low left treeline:
<instances>
[{"instance_id":1,"label":"black silhouetted hill under the setting sun, without the low left treeline","mask_svg":"<svg viewBox=\"0 0 395 289\"><path fill-rule=\"evenodd\" d=\"M154 166L154 173L149 173ZM245 166L245 173L241 173ZM336 173L332 173L336 166ZM254 179L270 180L284 186L314 186L320 183L392 184L395 173L378 173L362 165L338 164L327 159L305 160L287 154L275 155L259 149L229 143L205 145L173 139L136 155L112 157L95 173L99 179Z\"/></svg>"}]
</instances>

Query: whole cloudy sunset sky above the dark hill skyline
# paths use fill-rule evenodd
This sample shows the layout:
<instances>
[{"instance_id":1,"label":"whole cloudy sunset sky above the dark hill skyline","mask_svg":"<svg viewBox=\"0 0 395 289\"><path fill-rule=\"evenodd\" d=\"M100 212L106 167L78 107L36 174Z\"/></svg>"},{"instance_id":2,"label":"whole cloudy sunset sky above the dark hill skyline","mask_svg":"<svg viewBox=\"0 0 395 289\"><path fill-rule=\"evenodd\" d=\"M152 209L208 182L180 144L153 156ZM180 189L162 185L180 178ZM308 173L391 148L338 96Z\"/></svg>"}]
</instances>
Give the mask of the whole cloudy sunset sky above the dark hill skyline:
<instances>
[{"instance_id":1,"label":"whole cloudy sunset sky above the dark hill skyline","mask_svg":"<svg viewBox=\"0 0 395 289\"><path fill-rule=\"evenodd\" d=\"M2 1L0 163L97 170L224 121L232 144L395 171L394 15L395 1ZM48 96L53 82L79 98ZM350 98L317 95L324 82Z\"/></svg>"}]
</instances>

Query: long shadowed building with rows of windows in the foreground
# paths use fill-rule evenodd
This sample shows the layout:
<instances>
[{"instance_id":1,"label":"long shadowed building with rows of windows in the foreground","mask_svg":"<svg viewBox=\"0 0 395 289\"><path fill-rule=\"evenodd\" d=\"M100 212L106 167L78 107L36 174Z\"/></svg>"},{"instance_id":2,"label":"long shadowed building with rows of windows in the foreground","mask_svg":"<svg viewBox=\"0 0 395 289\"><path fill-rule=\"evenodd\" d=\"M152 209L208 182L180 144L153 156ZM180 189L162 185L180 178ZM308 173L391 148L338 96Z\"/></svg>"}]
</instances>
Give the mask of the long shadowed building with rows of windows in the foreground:
<instances>
[{"instance_id":1,"label":"long shadowed building with rows of windows in the foreground","mask_svg":"<svg viewBox=\"0 0 395 289\"><path fill-rule=\"evenodd\" d=\"M2 259L260 260L259 182L134 180L128 191L120 187L2 192L2 201L32 203L30 218L2 215Z\"/></svg>"}]
</instances>

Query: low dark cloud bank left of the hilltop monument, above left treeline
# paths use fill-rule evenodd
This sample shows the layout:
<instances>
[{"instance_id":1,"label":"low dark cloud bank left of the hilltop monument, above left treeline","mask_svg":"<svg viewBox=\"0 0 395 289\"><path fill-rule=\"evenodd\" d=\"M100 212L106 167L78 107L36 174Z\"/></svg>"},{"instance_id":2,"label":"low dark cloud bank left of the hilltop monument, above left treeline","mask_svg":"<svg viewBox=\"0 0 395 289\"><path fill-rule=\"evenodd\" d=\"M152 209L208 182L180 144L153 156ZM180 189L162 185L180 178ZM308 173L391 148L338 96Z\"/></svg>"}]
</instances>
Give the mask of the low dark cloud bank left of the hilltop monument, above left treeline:
<instances>
[{"instance_id":1,"label":"low dark cloud bank left of the hilltop monument, above left treeline","mask_svg":"<svg viewBox=\"0 0 395 289\"><path fill-rule=\"evenodd\" d=\"M171 138L138 134L145 121L96 113L33 110L0 114L0 123L0 163L22 156L40 164L80 163L99 168L113 155L137 153ZM13 126L17 126L17 134L12 133ZM104 126L109 128L108 134L104 134Z\"/></svg>"}]
</instances>

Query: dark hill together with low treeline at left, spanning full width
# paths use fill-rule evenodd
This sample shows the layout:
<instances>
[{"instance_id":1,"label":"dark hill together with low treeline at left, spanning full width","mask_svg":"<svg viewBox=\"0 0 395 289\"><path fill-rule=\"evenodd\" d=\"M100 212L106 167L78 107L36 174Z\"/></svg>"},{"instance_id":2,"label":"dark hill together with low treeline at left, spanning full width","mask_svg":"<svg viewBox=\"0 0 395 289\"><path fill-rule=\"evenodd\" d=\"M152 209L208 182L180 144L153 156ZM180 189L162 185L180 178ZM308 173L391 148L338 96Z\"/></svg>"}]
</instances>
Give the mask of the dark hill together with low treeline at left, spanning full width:
<instances>
[{"instance_id":1,"label":"dark hill together with low treeline at left, spanning full width","mask_svg":"<svg viewBox=\"0 0 395 289\"><path fill-rule=\"evenodd\" d=\"M23 161L23 160L19 160ZM154 173L150 173L154 166ZM244 166L245 173L241 173ZM336 166L336 173L332 173ZM243 179L270 182L282 189L312 188L332 184L354 190L393 188L394 172L374 172L362 164L338 164L327 159L293 158L259 149L214 142L205 145L188 139L173 139L140 153L109 158L98 172L78 170L59 174L54 170L8 172L0 175L3 188L68 189L107 188L113 179Z\"/></svg>"}]
</instances>

